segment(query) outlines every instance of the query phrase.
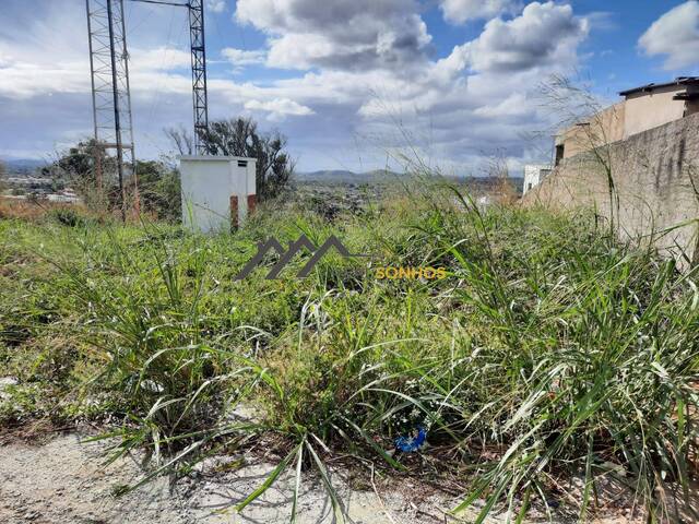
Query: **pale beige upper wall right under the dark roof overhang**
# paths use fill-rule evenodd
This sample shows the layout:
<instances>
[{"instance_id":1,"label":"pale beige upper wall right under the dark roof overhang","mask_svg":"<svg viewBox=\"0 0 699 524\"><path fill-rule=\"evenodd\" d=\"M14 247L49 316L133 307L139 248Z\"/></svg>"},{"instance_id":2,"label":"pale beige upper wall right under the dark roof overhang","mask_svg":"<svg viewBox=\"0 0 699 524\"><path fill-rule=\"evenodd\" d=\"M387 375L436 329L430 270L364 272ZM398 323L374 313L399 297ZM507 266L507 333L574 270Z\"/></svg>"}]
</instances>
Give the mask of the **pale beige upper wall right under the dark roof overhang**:
<instances>
[{"instance_id":1,"label":"pale beige upper wall right under the dark roof overhang","mask_svg":"<svg viewBox=\"0 0 699 524\"><path fill-rule=\"evenodd\" d=\"M677 93L685 93L685 86L670 86L652 93L629 95L626 100L624 138L649 129L679 120L685 116L685 102L673 100Z\"/></svg>"}]
</instances>

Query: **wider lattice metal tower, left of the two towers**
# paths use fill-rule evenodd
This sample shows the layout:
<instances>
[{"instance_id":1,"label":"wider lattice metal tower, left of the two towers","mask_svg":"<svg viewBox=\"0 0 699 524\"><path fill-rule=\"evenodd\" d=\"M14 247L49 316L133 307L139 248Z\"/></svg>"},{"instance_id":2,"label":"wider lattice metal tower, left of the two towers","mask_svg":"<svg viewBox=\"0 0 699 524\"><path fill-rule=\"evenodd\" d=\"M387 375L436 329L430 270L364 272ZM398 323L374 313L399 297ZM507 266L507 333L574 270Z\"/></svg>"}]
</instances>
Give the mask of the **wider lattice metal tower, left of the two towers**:
<instances>
[{"instance_id":1,"label":"wider lattice metal tower, left of the two towers","mask_svg":"<svg viewBox=\"0 0 699 524\"><path fill-rule=\"evenodd\" d=\"M121 215L126 218L129 205L127 183L132 181L137 209L138 183L123 0L85 0L85 8L90 35L95 144L105 151L116 150ZM96 155L97 158L100 156ZM95 167L99 186L99 159Z\"/></svg>"}]
</instances>

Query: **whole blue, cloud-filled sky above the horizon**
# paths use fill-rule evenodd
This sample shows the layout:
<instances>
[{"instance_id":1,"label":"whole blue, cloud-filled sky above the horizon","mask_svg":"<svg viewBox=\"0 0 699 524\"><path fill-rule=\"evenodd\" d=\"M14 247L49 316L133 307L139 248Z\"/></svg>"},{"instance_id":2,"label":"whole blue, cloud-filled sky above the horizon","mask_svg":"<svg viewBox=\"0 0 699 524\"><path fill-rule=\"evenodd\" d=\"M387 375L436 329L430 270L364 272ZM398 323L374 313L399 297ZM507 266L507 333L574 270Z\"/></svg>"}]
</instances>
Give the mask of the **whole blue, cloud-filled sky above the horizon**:
<instances>
[{"instance_id":1,"label":"whole blue, cloud-filled sky above the horizon","mask_svg":"<svg viewBox=\"0 0 699 524\"><path fill-rule=\"evenodd\" d=\"M186 10L125 0L137 156L192 127ZM512 175L550 158L562 75L602 104L699 74L699 0L206 0L210 119L279 130L298 170ZM84 0L0 0L0 158L91 136Z\"/></svg>"}]
</instances>

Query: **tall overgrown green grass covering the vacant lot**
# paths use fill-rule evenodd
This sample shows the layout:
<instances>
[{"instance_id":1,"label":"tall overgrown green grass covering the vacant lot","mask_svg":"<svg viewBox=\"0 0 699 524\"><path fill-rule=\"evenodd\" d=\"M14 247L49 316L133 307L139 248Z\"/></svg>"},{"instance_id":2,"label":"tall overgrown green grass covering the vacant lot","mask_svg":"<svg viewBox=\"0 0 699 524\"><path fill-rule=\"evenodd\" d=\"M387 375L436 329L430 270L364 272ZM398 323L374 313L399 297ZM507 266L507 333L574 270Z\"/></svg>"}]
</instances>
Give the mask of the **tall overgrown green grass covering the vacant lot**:
<instances>
[{"instance_id":1,"label":"tall overgrown green grass covering the vacant lot","mask_svg":"<svg viewBox=\"0 0 699 524\"><path fill-rule=\"evenodd\" d=\"M327 257L297 279L298 257L266 281L270 258L234 281L258 241L301 233L372 258ZM448 277L377 279L381 265ZM580 520L615 478L661 521L674 507L660 487L683 497L696 474L696 272L593 216L479 212L429 186L332 222L275 204L215 237L2 221L0 267L0 362L20 378L0 416L108 414L114 456L139 448L158 464L145 479L263 438L279 468L240 507L285 468L299 483L316 471L334 493L332 454L417 472L392 452L417 426L439 474L471 486L455 510L485 499L482 517L503 508L514 521L577 476ZM256 419L233 417L238 406Z\"/></svg>"}]
</instances>

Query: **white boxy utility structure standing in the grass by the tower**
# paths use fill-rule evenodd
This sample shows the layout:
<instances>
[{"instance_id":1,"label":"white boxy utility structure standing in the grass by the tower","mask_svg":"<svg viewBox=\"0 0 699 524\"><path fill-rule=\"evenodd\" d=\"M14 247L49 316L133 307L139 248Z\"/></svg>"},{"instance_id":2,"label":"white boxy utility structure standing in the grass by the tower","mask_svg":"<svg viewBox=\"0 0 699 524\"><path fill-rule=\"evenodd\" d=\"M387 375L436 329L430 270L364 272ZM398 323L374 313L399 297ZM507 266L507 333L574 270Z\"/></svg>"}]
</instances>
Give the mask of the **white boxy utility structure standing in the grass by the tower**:
<instances>
[{"instance_id":1,"label":"white boxy utility structure standing in the grass by the tower","mask_svg":"<svg viewBox=\"0 0 699 524\"><path fill-rule=\"evenodd\" d=\"M256 158L181 156L182 224L202 233L228 231L256 206Z\"/></svg>"}]
</instances>

